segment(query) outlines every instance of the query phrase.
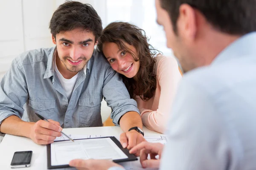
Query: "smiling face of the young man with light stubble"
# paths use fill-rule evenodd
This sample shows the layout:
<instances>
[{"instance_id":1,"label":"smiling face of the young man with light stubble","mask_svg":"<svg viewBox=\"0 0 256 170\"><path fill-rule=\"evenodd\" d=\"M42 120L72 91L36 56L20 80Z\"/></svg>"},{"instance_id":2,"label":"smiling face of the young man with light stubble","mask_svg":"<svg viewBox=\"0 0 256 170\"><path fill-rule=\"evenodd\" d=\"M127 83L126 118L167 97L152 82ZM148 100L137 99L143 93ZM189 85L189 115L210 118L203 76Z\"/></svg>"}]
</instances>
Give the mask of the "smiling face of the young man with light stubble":
<instances>
[{"instance_id":1,"label":"smiling face of the young man with light stubble","mask_svg":"<svg viewBox=\"0 0 256 170\"><path fill-rule=\"evenodd\" d=\"M76 28L56 34L56 39L52 37L52 42L57 46L58 70L67 76L81 71L92 57L95 36L92 32Z\"/></svg>"}]
</instances>

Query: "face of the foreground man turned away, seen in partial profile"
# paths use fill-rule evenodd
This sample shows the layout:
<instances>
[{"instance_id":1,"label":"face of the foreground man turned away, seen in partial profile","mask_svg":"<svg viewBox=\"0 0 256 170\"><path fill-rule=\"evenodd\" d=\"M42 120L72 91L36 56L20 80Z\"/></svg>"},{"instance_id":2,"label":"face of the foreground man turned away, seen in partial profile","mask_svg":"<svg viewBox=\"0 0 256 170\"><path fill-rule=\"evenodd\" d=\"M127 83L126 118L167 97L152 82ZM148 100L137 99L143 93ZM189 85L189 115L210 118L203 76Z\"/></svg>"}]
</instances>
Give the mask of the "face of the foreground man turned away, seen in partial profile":
<instances>
[{"instance_id":1,"label":"face of the foreground man turned away, seen in partial profile","mask_svg":"<svg viewBox=\"0 0 256 170\"><path fill-rule=\"evenodd\" d=\"M166 34L167 47L172 48L175 57L179 60L180 65L184 72L195 68L191 59L191 53L189 45L186 43L187 39L184 38L183 29L179 29L179 25L182 25L183 21L178 18L177 21L177 31L178 35L173 31L173 26L168 12L160 6L160 0L155 0L156 10L157 10L157 23L163 26ZM180 36L181 35L181 36Z\"/></svg>"}]
</instances>

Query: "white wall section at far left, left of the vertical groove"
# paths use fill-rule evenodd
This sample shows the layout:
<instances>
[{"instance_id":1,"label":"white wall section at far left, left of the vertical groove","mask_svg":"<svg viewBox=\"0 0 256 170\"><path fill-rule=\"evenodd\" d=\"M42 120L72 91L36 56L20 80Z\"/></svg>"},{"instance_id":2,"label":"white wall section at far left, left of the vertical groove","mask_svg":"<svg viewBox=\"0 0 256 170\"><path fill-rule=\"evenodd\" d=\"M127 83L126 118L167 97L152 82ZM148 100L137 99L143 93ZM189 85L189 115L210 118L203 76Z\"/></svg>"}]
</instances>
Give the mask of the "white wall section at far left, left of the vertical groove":
<instances>
[{"instance_id":1,"label":"white wall section at far left, left of the vertical groove","mask_svg":"<svg viewBox=\"0 0 256 170\"><path fill-rule=\"evenodd\" d=\"M12 6L12 10L10 10ZM0 1L0 78L12 59L24 51L21 1Z\"/></svg>"}]
</instances>

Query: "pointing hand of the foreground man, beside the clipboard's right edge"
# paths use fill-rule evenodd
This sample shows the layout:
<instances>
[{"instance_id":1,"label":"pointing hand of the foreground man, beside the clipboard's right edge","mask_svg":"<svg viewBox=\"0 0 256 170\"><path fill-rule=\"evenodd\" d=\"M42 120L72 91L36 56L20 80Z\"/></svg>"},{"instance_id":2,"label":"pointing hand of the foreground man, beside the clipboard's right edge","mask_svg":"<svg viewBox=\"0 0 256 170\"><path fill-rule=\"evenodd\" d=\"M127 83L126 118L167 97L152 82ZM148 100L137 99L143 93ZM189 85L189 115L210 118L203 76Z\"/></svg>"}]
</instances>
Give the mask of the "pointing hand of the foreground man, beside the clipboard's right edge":
<instances>
[{"instance_id":1,"label":"pointing hand of the foreground man, beside the clipboard's right edge","mask_svg":"<svg viewBox=\"0 0 256 170\"><path fill-rule=\"evenodd\" d=\"M163 144L142 142L133 147L129 153L137 153L140 151L140 164L143 168L158 168L160 164L161 154L163 151ZM148 160L148 154L150 159ZM159 155L159 159L156 156Z\"/></svg>"}]
</instances>

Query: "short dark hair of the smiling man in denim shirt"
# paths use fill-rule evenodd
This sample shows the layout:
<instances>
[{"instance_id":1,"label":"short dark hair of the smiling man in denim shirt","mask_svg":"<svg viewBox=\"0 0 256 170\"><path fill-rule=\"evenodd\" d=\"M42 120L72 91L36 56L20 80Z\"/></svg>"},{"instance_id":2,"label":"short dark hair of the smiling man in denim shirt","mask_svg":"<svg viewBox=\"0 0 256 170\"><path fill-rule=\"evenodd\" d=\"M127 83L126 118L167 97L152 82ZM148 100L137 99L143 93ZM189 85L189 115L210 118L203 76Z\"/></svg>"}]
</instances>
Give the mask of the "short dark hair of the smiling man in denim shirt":
<instances>
[{"instance_id":1,"label":"short dark hair of the smiling man in denim shirt","mask_svg":"<svg viewBox=\"0 0 256 170\"><path fill-rule=\"evenodd\" d=\"M102 33L102 20L90 4L66 1L53 13L49 28L55 38L61 31L83 28L92 32L96 41Z\"/></svg>"}]
</instances>

